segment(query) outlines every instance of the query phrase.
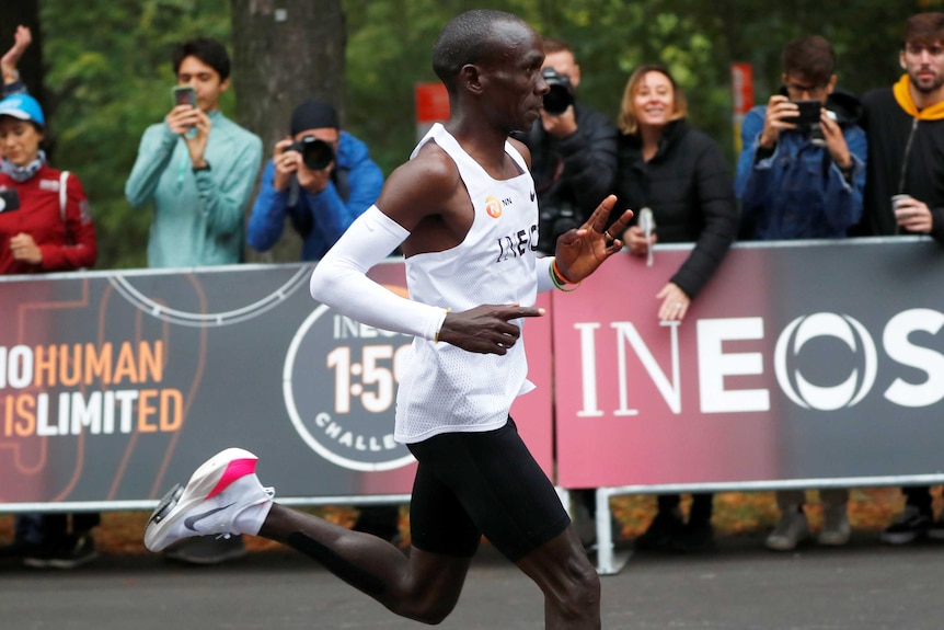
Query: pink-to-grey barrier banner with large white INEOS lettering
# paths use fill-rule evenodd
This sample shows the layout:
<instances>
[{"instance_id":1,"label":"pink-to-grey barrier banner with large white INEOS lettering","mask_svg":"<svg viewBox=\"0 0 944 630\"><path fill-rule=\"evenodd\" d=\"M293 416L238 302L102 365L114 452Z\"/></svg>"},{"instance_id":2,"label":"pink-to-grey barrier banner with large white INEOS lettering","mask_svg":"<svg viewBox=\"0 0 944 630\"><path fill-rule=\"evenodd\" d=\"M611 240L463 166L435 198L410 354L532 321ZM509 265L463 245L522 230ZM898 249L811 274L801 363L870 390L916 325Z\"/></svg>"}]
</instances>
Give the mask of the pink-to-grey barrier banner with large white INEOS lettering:
<instances>
[{"instance_id":1,"label":"pink-to-grey barrier banner with large white INEOS lettering","mask_svg":"<svg viewBox=\"0 0 944 630\"><path fill-rule=\"evenodd\" d=\"M942 471L944 248L739 245L661 324L689 251L621 255L554 296L560 485Z\"/></svg>"}]
</instances>

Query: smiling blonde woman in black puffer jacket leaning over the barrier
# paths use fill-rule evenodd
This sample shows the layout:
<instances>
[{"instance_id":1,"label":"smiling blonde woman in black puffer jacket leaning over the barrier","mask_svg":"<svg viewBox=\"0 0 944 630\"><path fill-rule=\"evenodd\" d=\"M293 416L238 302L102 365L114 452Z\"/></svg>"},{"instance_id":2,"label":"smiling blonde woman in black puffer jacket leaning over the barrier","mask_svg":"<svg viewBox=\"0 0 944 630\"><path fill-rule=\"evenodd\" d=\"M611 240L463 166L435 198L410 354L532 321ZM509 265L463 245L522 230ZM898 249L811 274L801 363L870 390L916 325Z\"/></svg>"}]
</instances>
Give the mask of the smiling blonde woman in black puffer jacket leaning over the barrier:
<instances>
[{"instance_id":1,"label":"smiling blonde woman in black puffer jacket leaning over the barrier","mask_svg":"<svg viewBox=\"0 0 944 630\"><path fill-rule=\"evenodd\" d=\"M656 240L694 243L681 267L656 294L657 317L682 321L691 301L711 279L737 233L737 208L727 161L713 139L691 127L684 94L658 65L636 68L630 77L619 117L614 207L636 215L622 234L632 255L647 255ZM656 229L647 233L638 216L652 210ZM688 522L680 496L659 495L658 513L636 538L637 549L672 547L698 551L713 540L713 495L693 495Z\"/></svg>"}]
</instances>

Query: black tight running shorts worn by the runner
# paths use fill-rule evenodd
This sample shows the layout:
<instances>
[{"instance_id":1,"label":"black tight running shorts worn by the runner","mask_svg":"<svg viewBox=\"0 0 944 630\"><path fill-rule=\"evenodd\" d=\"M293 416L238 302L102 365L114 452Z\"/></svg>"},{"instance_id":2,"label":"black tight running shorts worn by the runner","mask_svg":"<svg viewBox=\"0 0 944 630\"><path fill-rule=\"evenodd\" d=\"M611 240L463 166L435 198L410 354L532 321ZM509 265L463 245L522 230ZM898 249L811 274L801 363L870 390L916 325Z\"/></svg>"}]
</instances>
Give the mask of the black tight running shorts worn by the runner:
<instances>
[{"instance_id":1,"label":"black tight running shorts worn by the runner","mask_svg":"<svg viewBox=\"0 0 944 630\"><path fill-rule=\"evenodd\" d=\"M513 562L571 524L509 417L484 433L446 433L407 445L419 461L410 503L412 545L471 558L484 535Z\"/></svg>"}]
</instances>

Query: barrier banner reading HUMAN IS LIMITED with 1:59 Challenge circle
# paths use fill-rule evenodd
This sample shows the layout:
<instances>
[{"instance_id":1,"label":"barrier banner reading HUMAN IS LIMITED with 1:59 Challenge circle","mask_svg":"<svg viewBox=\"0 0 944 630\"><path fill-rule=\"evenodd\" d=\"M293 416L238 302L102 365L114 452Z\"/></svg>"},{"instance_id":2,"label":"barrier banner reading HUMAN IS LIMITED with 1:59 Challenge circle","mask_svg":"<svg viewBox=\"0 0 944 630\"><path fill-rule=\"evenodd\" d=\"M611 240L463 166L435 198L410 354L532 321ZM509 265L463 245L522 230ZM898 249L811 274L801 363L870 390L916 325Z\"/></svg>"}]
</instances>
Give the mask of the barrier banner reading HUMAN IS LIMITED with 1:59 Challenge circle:
<instances>
[{"instance_id":1,"label":"barrier banner reading HUMAN IS LIMITED with 1:59 Challenge circle","mask_svg":"<svg viewBox=\"0 0 944 630\"><path fill-rule=\"evenodd\" d=\"M415 462L393 411L412 337L313 301L310 272L0 279L0 507L151 507L229 446L260 456L285 503L407 499ZM402 262L371 275L405 295ZM550 474L550 321L528 333L544 396L513 414Z\"/></svg>"}]
</instances>

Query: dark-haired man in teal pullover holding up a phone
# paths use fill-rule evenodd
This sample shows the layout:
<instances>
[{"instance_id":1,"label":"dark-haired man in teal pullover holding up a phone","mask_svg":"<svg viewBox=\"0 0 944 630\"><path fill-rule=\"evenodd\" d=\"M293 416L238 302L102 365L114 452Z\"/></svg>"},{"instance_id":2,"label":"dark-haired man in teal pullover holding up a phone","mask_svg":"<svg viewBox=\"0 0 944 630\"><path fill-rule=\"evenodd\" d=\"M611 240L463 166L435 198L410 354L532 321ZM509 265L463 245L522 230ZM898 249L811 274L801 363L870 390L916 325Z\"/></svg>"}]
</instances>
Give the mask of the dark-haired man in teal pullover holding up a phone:
<instances>
[{"instance_id":1,"label":"dark-haired man in teal pullover holding up a phone","mask_svg":"<svg viewBox=\"0 0 944 630\"><path fill-rule=\"evenodd\" d=\"M239 263L262 140L218 108L230 84L229 55L219 42L185 42L174 50L173 66L177 84L194 88L196 103L176 104L148 127L125 183L131 206L153 203L148 266Z\"/></svg>"}]
</instances>

